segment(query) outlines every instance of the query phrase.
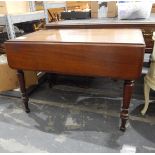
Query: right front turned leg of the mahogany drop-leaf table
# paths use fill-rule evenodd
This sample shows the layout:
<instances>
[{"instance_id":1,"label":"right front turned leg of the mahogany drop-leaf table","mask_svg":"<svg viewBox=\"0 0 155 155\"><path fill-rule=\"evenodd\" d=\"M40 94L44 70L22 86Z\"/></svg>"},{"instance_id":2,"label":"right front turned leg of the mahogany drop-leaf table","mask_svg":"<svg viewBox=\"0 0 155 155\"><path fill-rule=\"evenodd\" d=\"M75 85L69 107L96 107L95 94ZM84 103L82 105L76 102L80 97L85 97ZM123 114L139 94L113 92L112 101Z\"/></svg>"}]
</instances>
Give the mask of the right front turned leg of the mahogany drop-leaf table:
<instances>
[{"instance_id":1,"label":"right front turned leg of the mahogany drop-leaf table","mask_svg":"<svg viewBox=\"0 0 155 155\"><path fill-rule=\"evenodd\" d=\"M126 130L126 122L129 118L128 110L129 110L133 87L134 87L134 81L125 80L124 90L123 90L123 106L121 110L121 126L120 126L121 131Z\"/></svg>"}]
</instances>

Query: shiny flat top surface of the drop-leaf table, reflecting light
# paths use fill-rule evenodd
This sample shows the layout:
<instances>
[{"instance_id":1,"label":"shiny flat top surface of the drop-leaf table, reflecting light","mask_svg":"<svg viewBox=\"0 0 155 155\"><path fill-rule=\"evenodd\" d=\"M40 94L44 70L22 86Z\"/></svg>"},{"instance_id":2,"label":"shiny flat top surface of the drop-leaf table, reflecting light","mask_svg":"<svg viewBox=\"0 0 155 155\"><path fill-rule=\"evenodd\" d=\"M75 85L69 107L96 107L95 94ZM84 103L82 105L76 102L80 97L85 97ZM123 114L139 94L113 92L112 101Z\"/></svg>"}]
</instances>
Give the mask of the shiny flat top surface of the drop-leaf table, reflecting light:
<instances>
[{"instance_id":1,"label":"shiny flat top surface of the drop-leaf table, reflecting light","mask_svg":"<svg viewBox=\"0 0 155 155\"><path fill-rule=\"evenodd\" d=\"M139 29L48 29L9 42L145 44Z\"/></svg>"}]
</instances>

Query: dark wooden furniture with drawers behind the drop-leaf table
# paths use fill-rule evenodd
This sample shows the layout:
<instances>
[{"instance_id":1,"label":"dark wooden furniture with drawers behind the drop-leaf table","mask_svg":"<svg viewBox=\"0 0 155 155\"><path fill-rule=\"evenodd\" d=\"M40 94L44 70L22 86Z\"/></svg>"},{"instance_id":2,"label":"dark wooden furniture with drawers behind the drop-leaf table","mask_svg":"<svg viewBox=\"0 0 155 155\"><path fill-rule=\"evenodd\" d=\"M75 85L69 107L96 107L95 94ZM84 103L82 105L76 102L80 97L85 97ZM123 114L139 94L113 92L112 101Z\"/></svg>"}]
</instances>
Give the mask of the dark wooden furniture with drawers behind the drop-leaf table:
<instances>
[{"instance_id":1,"label":"dark wooden furniture with drawers behind the drop-leaf table","mask_svg":"<svg viewBox=\"0 0 155 155\"><path fill-rule=\"evenodd\" d=\"M85 20L65 20L53 22L46 25L47 29L101 29L101 28L123 28L141 29L143 32L146 53L153 51L153 32L155 31L155 14L149 19L118 20L117 18L85 19Z\"/></svg>"}]
</instances>

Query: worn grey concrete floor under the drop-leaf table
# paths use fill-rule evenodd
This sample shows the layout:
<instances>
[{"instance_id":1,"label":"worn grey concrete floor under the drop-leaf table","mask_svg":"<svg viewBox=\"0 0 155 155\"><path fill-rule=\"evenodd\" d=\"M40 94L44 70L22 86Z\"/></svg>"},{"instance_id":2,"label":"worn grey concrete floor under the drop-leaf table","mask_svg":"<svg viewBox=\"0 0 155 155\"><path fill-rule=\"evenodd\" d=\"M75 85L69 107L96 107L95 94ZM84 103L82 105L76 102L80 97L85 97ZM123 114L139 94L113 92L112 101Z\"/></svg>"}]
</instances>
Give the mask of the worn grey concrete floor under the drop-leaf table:
<instances>
[{"instance_id":1,"label":"worn grey concrete floor under the drop-leaf table","mask_svg":"<svg viewBox=\"0 0 155 155\"><path fill-rule=\"evenodd\" d=\"M155 152L155 93L144 104L143 76L136 81L126 132L119 130L123 81L58 76L30 95L26 114L19 94L0 95L0 152Z\"/></svg>"}]
</instances>

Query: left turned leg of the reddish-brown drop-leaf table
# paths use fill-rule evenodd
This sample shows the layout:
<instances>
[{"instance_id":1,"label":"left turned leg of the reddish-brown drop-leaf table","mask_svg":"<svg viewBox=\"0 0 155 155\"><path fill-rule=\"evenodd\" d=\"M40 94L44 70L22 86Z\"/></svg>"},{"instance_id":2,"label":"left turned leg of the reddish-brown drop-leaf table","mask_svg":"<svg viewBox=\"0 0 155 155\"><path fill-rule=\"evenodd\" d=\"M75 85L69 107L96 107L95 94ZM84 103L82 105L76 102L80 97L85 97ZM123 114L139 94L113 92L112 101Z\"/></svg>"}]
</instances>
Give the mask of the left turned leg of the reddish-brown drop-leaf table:
<instances>
[{"instance_id":1,"label":"left turned leg of the reddish-brown drop-leaf table","mask_svg":"<svg viewBox=\"0 0 155 155\"><path fill-rule=\"evenodd\" d=\"M18 80L19 80L19 86L20 86L20 91L21 91L21 95L22 95L22 100L23 100L23 103L25 106L25 111L27 113L29 113L30 112L30 109L28 106L29 98L26 94L24 72L22 70L17 70L17 76L18 76Z\"/></svg>"}]
</instances>

